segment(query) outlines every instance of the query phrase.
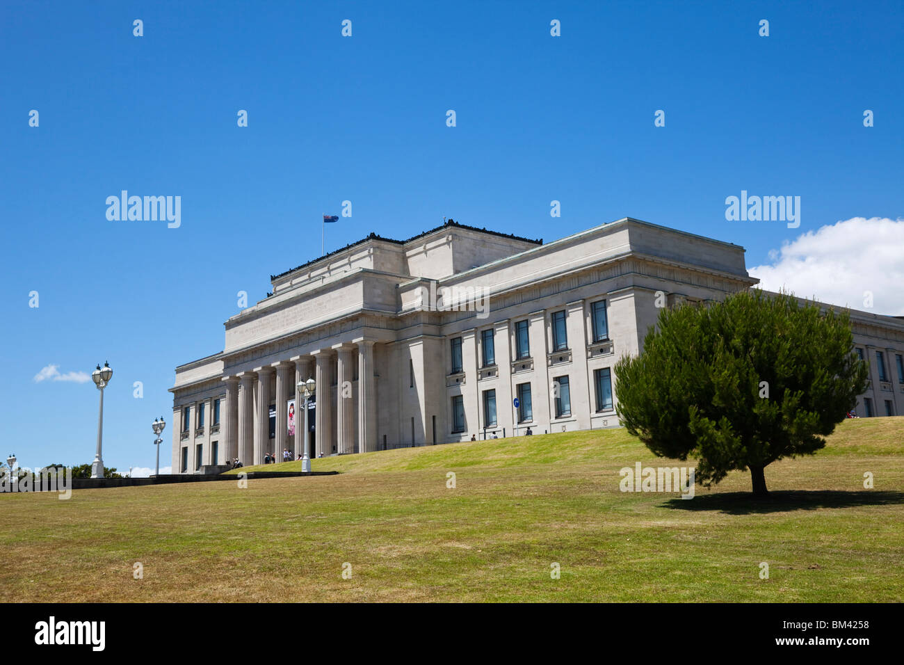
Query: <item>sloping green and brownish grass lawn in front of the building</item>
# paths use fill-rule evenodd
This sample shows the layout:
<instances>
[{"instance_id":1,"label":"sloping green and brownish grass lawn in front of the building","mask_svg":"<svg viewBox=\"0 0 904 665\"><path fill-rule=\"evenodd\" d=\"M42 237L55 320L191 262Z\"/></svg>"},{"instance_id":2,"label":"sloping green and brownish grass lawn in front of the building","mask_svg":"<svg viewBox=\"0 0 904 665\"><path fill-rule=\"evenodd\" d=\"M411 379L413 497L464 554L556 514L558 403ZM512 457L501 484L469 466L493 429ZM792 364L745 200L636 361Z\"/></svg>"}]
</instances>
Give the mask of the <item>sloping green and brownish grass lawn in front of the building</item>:
<instances>
[{"instance_id":1,"label":"sloping green and brownish grass lawn in front of the building","mask_svg":"<svg viewBox=\"0 0 904 665\"><path fill-rule=\"evenodd\" d=\"M824 451L768 466L763 502L737 472L692 500L623 493L618 470L636 461L670 465L609 430L314 460L341 473L247 489L0 496L0 599L904 599L904 418L845 421Z\"/></svg>"}]
</instances>

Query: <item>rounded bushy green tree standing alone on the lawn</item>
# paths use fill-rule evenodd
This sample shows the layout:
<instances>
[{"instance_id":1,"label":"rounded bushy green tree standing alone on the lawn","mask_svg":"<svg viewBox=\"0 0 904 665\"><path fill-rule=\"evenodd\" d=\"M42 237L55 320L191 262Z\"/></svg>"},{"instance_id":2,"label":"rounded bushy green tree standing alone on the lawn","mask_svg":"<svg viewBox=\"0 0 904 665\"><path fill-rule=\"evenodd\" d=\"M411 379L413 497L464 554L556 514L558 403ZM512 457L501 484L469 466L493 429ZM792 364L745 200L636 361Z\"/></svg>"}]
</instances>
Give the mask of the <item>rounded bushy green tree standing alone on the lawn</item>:
<instances>
[{"instance_id":1,"label":"rounded bushy green tree standing alone on the lawn","mask_svg":"<svg viewBox=\"0 0 904 665\"><path fill-rule=\"evenodd\" d=\"M656 455L698 459L704 486L749 470L763 496L764 469L823 448L868 374L846 310L749 290L664 309L643 352L616 365L617 413Z\"/></svg>"}]
</instances>

